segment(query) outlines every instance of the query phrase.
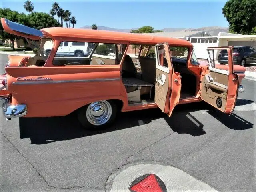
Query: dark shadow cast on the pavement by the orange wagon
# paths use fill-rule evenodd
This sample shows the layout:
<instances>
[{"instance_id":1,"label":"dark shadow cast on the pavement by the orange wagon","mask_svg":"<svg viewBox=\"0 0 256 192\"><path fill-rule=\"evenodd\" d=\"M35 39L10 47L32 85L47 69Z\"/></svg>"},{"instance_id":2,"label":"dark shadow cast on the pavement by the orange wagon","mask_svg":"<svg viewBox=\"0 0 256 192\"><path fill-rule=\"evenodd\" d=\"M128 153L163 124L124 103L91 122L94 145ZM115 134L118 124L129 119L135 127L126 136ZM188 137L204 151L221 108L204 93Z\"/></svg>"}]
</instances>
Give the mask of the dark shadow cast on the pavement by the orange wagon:
<instances>
[{"instance_id":1,"label":"dark shadow cast on the pavement by the orange wagon","mask_svg":"<svg viewBox=\"0 0 256 192\"><path fill-rule=\"evenodd\" d=\"M204 125L194 116L192 116L190 112L212 109L212 106L204 102L184 104L176 106L171 118L162 113L158 108L124 112L118 114L116 121L112 126L105 130L96 131L84 129L78 122L75 113L61 117L20 118L20 138L30 138L31 144L46 144L55 141L70 140L74 138L102 134L105 132L122 130L140 126L142 124L145 125L151 123L152 120L159 118L164 118L170 128L178 134L200 136L206 133L203 130ZM221 112L215 112L215 110L208 113L226 126L235 127L237 130L239 130L238 128L241 126L252 127L252 124L246 120L241 121L241 118L232 118L232 116L226 116Z\"/></svg>"}]
</instances>

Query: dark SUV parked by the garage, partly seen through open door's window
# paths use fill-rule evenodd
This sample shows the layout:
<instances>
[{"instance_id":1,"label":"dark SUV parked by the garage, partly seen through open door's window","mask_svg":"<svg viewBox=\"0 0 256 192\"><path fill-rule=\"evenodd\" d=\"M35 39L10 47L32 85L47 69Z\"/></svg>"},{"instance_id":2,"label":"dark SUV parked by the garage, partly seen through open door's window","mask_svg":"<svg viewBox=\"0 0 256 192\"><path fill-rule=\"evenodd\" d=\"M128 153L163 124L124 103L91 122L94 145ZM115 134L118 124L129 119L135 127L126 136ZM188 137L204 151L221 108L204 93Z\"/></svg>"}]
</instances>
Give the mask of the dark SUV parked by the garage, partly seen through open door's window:
<instances>
[{"instance_id":1,"label":"dark SUV parked by the garage, partly seen through open door's window","mask_svg":"<svg viewBox=\"0 0 256 192\"><path fill-rule=\"evenodd\" d=\"M256 63L256 50L250 46L234 46L233 62L234 64L241 66ZM218 63L228 63L228 53L226 49L221 50L219 53Z\"/></svg>"}]
</instances>

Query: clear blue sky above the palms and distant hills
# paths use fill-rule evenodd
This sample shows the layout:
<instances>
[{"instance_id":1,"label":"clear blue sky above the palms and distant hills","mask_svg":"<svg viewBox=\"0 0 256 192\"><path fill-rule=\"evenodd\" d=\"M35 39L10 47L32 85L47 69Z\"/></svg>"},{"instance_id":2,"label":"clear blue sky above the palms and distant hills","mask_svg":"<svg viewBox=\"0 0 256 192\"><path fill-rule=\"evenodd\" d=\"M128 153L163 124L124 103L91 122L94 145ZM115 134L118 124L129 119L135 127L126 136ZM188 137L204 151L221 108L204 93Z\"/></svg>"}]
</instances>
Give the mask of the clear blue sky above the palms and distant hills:
<instances>
[{"instance_id":1,"label":"clear blue sky above the palms and distant hills","mask_svg":"<svg viewBox=\"0 0 256 192\"><path fill-rule=\"evenodd\" d=\"M2 8L25 12L25 0L1 0ZM49 13L51 0L31 0L34 11ZM72 12L77 19L75 27L103 25L112 28L138 28L150 25L155 29L228 27L222 14L225 0L60 0L60 7Z\"/></svg>"}]
</instances>

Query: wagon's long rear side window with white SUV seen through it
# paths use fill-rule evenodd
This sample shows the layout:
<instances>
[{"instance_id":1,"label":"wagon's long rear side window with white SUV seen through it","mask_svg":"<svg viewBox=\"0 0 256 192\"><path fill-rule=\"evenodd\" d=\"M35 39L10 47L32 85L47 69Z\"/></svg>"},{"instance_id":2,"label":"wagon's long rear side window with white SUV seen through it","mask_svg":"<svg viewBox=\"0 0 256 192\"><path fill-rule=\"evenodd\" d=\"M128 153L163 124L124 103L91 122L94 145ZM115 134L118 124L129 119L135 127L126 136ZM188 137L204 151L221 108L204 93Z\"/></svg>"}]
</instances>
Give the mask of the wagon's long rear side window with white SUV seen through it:
<instances>
[{"instance_id":1,"label":"wagon's long rear side window with white SUV seen through it","mask_svg":"<svg viewBox=\"0 0 256 192\"><path fill-rule=\"evenodd\" d=\"M115 65L120 63L124 50L124 44L61 42L53 65Z\"/></svg>"}]
</instances>

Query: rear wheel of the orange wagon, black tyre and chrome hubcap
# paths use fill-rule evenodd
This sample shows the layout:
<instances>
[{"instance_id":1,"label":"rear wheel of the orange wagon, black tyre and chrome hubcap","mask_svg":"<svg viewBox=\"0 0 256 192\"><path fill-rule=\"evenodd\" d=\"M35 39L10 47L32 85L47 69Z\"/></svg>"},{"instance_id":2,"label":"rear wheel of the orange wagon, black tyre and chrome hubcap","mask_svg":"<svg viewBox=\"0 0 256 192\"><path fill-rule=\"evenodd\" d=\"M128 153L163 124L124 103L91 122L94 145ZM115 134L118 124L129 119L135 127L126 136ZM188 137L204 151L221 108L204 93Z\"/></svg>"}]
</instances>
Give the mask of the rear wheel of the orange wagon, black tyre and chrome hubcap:
<instances>
[{"instance_id":1,"label":"rear wheel of the orange wagon, black tyre and chrome hubcap","mask_svg":"<svg viewBox=\"0 0 256 192\"><path fill-rule=\"evenodd\" d=\"M100 100L78 110L78 120L86 129L106 128L116 118L117 106L112 101Z\"/></svg>"}]
</instances>

